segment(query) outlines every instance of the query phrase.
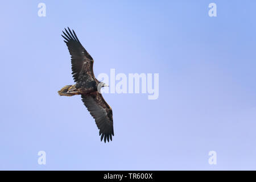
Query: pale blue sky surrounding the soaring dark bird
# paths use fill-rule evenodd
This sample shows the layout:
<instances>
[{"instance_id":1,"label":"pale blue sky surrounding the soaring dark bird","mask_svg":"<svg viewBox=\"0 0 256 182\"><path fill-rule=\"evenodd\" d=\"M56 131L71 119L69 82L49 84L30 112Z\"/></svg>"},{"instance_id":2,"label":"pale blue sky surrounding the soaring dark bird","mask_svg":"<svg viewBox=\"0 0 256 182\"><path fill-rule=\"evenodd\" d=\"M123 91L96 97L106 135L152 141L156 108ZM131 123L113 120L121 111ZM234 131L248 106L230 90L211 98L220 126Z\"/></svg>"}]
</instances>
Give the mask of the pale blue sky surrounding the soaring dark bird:
<instances>
[{"instance_id":1,"label":"pale blue sky surrounding the soaring dark bird","mask_svg":"<svg viewBox=\"0 0 256 182\"><path fill-rule=\"evenodd\" d=\"M38 4L46 16L38 16ZM216 3L217 16L208 15ZM0 169L256 169L256 1L3 1ZM159 97L104 94L100 142L73 84L65 27L94 73L159 73ZM38 152L46 152L46 165ZM217 164L208 163L216 151Z\"/></svg>"}]
</instances>

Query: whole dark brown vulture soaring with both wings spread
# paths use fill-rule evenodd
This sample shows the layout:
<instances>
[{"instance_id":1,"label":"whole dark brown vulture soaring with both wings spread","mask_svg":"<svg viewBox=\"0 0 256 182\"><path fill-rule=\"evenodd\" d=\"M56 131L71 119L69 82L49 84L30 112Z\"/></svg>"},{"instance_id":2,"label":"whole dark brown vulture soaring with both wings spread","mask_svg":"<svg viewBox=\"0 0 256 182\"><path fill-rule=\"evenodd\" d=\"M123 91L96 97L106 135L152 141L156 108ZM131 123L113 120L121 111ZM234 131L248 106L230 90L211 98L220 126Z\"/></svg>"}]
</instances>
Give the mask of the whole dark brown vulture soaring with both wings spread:
<instances>
[{"instance_id":1,"label":"whole dark brown vulture soaring with both wings spread","mask_svg":"<svg viewBox=\"0 0 256 182\"><path fill-rule=\"evenodd\" d=\"M75 31L71 31L69 27L68 30L64 29L65 32L62 31L63 35L61 36L64 38L71 55L72 75L75 84L64 86L58 93L60 96L81 95L82 102L95 119L101 141L104 139L105 143L106 140L109 142L109 139L112 140L112 136L114 136L113 112L100 92L102 87L109 85L98 81L94 76L94 60L80 43Z\"/></svg>"}]
</instances>

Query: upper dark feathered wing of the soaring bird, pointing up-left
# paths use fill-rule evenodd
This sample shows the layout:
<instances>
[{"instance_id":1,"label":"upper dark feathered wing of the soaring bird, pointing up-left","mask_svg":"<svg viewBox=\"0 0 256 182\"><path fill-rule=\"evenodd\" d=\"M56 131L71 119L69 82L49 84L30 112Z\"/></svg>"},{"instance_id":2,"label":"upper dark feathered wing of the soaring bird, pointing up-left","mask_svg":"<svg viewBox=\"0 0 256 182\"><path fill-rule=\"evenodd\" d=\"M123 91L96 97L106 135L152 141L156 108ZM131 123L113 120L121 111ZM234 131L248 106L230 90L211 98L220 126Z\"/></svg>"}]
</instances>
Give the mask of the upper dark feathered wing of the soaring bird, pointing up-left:
<instances>
[{"instance_id":1,"label":"upper dark feathered wing of the soaring bird, pointing up-left","mask_svg":"<svg viewBox=\"0 0 256 182\"><path fill-rule=\"evenodd\" d=\"M72 75L77 82L79 80L80 75L86 75L89 74L90 76L94 77L93 74L93 58L89 55L89 53L85 50L84 47L82 47L82 44L79 42L79 39L76 36L76 33L74 30L66 30L63 32L63 38L65 39L64 42L68 46L68 51L71 55L71 64L72 64Z\"/></svg>"}]
</instances>

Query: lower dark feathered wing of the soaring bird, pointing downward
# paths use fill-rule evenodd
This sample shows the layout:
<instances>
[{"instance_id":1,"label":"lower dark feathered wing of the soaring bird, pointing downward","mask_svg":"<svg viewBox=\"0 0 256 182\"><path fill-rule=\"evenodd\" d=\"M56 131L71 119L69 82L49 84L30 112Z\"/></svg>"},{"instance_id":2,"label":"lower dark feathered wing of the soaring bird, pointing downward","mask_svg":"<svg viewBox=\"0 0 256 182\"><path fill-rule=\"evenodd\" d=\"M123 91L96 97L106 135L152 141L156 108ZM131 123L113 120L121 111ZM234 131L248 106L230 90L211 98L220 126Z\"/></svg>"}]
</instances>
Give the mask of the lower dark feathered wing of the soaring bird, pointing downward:
<instances>
[{"instance_id":1,"label":"lower dark feathered wing of the soaring bird, pointing downward","mask_svg":"<svg viewBox=\"0 0 256 182\"><path fill-rule=\"evenodd\" d=\"M82 94L82 102L87 107L90 115L95 119L96 125L100 130L101 141L104 138L112 140L114 136L113 128L113 114L111 107L106 103L102 94L99 92L92 92L89 94Z\"/></svg>"}]
</instances>

